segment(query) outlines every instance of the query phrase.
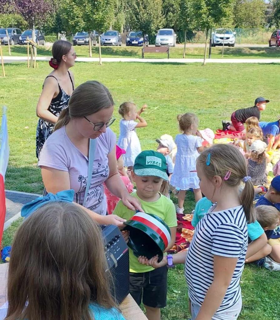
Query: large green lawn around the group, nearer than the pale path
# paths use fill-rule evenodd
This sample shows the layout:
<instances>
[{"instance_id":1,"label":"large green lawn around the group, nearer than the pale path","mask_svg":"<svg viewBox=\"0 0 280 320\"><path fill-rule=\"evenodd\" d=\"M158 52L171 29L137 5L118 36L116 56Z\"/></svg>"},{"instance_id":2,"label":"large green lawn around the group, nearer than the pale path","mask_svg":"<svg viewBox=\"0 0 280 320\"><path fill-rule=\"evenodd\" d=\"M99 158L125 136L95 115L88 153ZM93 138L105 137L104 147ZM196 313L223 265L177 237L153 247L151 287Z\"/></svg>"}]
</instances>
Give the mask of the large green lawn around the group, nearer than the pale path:
<instances>
[{"instance_id":1,"label":"large green lawn around the group, nearer than the pale path","mask_svg":"<svg viewBox=\"0 0 280 320\"><path fill-rule=\"evenodd\" d=\"M176 48L177 49L177 48ZM253 105L258 96L270 99L262 120L275 121L279 114L279 80L275 64L161 64L161 63L76 63L72 68L76 86L97 79L110 89L115 101L114 115L121 102L133 100L138 106L148 104L143 114L148 126L137 130L142 149L155 149L155 139L178 133L176 116L195 112L200 127L215 130L221 120L242 107ZM7 64L6 78L0 77L0 106L8 106L10 162L5 177L7 189L41 193L43 184L35 156L37 126L36 104L45 76L51 71L47 62L39 68L26 64ZM119 121L112 125L119 133ZM175 200L176 201L176 200ZM194 198L187 194L186 211L194 208ZM12 241L16 221L4 232L2 244ZM243 310L241 320L279 320L280 273L246 266L242 277ZM183 266L169 272L168 306L163 320L188 319L187 289Z\"/></svg>"}]
</instances>

